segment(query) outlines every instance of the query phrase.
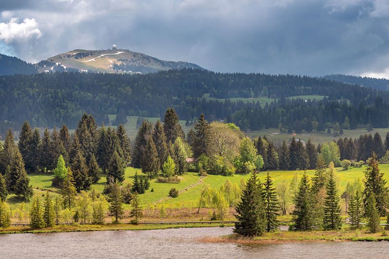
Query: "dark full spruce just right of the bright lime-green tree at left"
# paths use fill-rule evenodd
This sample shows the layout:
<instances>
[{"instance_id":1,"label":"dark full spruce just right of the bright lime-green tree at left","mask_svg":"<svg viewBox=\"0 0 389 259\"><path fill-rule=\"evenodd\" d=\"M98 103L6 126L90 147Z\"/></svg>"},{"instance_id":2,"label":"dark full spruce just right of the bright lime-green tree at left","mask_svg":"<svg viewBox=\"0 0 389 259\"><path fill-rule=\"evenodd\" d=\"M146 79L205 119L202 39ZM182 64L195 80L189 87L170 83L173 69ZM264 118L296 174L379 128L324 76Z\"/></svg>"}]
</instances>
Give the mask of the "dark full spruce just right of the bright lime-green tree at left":
<instances>
[{"instance_id":1,"label":"dark full spruce just right of the bright lime-green tree at left","mask_svg":"<svg viewBox=\"0 0 389 259\"><path fill-rule=\"evenodd\" d=\"M81 190L89 190L92 183L88 175L88 167L84 156L81 154L81 150L78 150L76 156L71 164L71 171L74 174L75 188L77 192Z\"/></svg>"}]
</instances>

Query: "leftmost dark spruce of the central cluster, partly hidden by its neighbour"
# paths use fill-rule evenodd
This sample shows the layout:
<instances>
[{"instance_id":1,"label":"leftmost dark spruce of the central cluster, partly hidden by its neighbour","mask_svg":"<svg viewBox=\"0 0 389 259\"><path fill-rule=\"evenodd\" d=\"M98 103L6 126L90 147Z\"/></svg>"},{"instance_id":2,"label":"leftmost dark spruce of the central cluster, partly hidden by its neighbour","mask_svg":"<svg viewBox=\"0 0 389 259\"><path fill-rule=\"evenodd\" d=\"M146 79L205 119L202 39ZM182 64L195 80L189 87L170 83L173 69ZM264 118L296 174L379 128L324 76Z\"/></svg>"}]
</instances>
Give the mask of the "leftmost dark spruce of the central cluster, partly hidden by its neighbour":
<instances>
[{"instance_id":1,"label":"leftmost dark spruce of the central cluster, partly hidden by its neighbour","mask_svg":"<svg viewBox=\"0 0 389 259\"><path fill-rule=\"evenodd\" d=\"M147 121L143 121L135 137L135 145L132 151L132 166L135 168L141 167L143 150L146 146L147 139L152 136L153 126Z\"/></svg>"}]
</instances>

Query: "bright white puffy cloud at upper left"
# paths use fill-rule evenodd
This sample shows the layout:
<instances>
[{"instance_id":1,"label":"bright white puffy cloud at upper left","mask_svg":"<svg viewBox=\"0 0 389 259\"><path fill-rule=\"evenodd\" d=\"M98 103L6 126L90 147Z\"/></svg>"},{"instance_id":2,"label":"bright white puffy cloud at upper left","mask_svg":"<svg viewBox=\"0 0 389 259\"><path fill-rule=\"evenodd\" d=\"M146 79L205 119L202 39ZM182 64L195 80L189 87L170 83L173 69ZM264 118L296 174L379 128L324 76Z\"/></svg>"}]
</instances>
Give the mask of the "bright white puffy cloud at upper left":
<instances>
[{"instance_id":1,"label":"bright white puffy cloud at upper left","mask_svg":"<svg viewBox=\"0 0 389 259\"><path fill-rule=\"evenodd\" d=\"M36 20L25 18L18 23L18 18L10 18L8 22L0 23L0 40L9 44L13 41L25 40L31 37L39 38L42 33L39 31Z\"/></svg>"}]
</instances>

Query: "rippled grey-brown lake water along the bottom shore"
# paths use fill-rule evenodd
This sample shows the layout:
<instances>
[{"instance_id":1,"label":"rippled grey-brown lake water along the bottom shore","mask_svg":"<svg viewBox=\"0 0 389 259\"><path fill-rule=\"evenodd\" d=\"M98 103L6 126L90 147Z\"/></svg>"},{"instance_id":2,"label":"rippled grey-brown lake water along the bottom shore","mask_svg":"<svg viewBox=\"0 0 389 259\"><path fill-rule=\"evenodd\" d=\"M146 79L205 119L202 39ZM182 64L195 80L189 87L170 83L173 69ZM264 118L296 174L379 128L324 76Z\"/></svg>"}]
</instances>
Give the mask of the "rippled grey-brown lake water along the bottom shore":
<instances>
[{"instance_id":1,"label":"rippled grey-brown lake water along the bottom shore","mask_svg":"<svg viewBox=\"0 0 389 259\"><path fill-rule=\"evenodd\" d=\"M388 258L389 242L202 243L231 227L0 235L0 258Z\"/></svg>"}]
</instances>

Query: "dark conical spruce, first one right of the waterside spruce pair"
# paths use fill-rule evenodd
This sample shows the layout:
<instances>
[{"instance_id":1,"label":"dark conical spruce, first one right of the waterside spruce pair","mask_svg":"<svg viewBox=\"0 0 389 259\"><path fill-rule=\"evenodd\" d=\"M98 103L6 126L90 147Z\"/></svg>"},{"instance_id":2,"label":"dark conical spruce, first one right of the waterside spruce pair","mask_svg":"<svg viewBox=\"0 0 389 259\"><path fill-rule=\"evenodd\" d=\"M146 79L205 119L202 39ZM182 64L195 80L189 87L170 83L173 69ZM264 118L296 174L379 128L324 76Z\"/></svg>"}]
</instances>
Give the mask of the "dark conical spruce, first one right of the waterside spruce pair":
<instances>
[{"instance_id":1,"label":"dark conical spruce, first one right of the waterside spruce pair","mask_svg":"<svg viewBox=\"0 0 389 259\"><path fill-rule=\"evenodd\" d=\"M297 230L311 230L314 224L314 202L311 194L311 188L307 174L301 177L298 192L295 197L295 208L293 210L294 215L294 227Z\"/></svg>"}]
</instances>

